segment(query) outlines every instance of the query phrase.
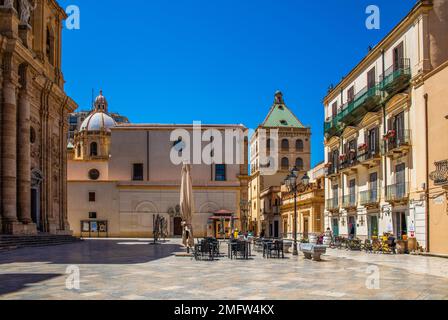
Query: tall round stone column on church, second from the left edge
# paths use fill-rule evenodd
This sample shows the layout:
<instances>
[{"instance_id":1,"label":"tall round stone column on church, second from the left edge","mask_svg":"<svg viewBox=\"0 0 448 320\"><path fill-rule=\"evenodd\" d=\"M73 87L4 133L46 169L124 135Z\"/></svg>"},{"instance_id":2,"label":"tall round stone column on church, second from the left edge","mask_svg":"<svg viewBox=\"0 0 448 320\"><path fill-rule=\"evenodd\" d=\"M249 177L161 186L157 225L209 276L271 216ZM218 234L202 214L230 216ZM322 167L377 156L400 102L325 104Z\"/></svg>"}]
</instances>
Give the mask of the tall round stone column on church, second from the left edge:
<instances>
[{"instance_id":1,"label":"tall round stone column on church, second from the left edge","mask_svg":"<svg viewBox=\"0 0 448 320\"><path fill-rule=\"evenodd\" d=\"M21 71L22 88L19 93L18 135L17 135L17 204L18 218L23 224L31 219L31 144L30 144L30 102L27 93L26 70ZM25 77L25 78L24 78Z\"/></svg>"}]
</instances>

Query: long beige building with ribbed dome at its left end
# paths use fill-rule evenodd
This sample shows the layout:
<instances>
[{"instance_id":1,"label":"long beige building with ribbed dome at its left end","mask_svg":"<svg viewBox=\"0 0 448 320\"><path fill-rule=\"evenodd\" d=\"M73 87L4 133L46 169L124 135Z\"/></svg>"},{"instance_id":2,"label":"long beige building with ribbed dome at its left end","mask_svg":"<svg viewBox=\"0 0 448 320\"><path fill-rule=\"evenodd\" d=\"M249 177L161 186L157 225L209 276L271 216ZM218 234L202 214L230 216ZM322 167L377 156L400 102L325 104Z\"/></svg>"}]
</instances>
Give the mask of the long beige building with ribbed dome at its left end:
<instances>
[{"instance_id":1,"label":"long beige building with ribbed dome at its left end","mask_svg":"<svg viewBox=\"0 0 448 320\"><path fill-rule=\"evenodd\" d=\"M175 130L184 135L173 142ZM207 136L210 130L216 140ZM198 134L202 152L217 154L217 149L206 148L226 131L245 134L246 129L242 125L202 125L199 130L193 125L117 125L101 94L69 151L68 206L74 234L152 237L153 219L159 215L167 221L168 236L181 236L182 165L171 161L171 152L185 154L189 142L195 145L188 137ZM228 237L231 227L241 228L240 204L247 202L248 180L247 139L242 139L241 163L236 162L235 144L235 162L192 165L196 237ZM228 149L222 148L225 158ZM224 229L226 234L220 234Z\"/></svg>"}]
</instances>

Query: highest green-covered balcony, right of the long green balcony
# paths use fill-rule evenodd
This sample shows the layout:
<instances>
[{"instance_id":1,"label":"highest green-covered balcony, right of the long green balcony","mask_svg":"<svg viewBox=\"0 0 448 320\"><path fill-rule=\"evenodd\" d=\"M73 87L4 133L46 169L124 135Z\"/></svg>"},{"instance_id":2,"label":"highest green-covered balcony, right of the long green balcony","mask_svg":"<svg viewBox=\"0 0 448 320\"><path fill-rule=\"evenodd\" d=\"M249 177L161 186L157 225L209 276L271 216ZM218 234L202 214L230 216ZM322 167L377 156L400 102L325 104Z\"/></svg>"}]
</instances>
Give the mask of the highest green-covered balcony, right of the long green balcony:
<instances>
[{"instance_id":1,"label":"highest green-covered balcony, right of the long green balcony","mask_svg":"<svg viewBox=\"0 0 448 320\"><path fill-rule=\"evenodd\" d=\"M380 90L392 96L409 86L411 81L410 59L403 59L393 65L380 77Z\"/></svg>"}]
</instances>

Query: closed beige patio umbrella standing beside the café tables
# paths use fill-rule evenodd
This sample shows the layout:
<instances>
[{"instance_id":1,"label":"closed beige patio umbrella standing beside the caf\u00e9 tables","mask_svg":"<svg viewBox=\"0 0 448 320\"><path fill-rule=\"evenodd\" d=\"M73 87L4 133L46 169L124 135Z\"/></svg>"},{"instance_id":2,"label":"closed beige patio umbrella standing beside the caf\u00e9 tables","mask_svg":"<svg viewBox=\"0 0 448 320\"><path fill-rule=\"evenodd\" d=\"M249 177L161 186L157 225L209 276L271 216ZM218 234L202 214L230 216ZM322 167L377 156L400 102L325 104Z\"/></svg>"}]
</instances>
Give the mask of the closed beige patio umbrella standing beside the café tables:
<instances>
[{"instance_id":1,"label":"closed beige patio umbrella standing beside the caf\u00e9 tables","mask_svg":"<svg viewBox=\"0 0 448 320\"><path fill-rule=\"evenodd\" d=\"M182 181L180 186L180 210L182 214L182 243L187 249L194 247L193 237L193 184L191 180L191 165L182 167Z\"/></svg>"}]
</instances>

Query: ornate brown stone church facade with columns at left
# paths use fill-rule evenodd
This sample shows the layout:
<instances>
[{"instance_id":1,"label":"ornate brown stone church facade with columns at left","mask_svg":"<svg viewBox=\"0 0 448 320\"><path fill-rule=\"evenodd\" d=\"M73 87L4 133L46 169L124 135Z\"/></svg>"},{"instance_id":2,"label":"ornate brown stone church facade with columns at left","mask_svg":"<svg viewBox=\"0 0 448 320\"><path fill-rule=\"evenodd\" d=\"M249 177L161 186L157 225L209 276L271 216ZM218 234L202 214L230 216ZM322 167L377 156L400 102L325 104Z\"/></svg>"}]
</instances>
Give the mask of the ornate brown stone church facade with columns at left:
<instances>
[{"instance_id":1,"label":"ornate brown stone church facade with columns at left","mask_svg":"<svg viewBox=\"0 0 448 320\"><path fill-rule=\"evenodd\" d=\"M56 1L0 1L0 234L70 234L68 113Z\"/></svg>"}]
</instances>

